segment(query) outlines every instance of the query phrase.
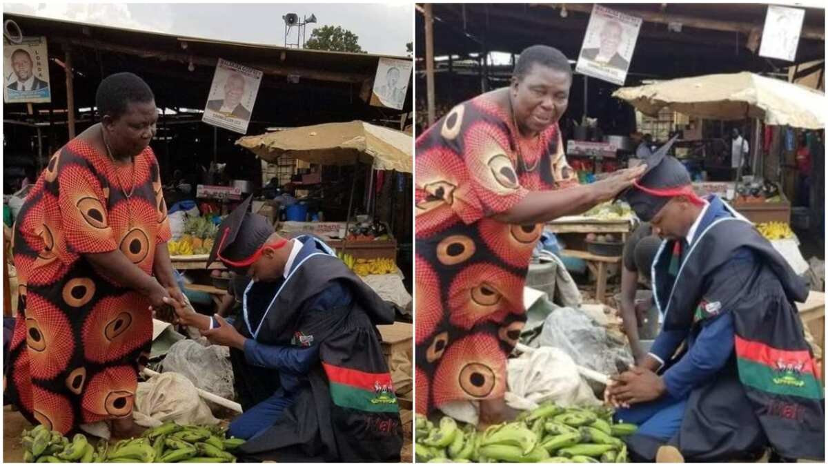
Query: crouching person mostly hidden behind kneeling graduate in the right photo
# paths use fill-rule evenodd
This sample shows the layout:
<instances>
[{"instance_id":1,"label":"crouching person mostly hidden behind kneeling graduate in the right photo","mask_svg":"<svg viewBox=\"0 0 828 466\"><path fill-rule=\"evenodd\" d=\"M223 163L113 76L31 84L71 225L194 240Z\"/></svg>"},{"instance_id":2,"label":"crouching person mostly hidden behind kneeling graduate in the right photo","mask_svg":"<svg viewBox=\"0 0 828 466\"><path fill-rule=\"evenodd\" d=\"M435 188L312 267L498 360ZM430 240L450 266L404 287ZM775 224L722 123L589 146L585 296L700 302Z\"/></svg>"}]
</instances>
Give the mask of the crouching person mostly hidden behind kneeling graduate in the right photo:
<instances>
[{"instance_id":1,"label":"crouching person mostly hidden behind kneeling graduate in the right photo","mask_svg":"<svg viewBox=\"0 0 828 466\"><path fill-rule=\"evenodd\" d=\"M638 284L643 282L650 288L650 269L662 240L652 232L646 221L633 231L623 246L623 267L621 269L621 319L623 332L627 335L629 347L633 350L636 364L643 362L647 352L643 351L638 337L652 308L652 299L636 300Z\"/></svg>"}]
</instances>

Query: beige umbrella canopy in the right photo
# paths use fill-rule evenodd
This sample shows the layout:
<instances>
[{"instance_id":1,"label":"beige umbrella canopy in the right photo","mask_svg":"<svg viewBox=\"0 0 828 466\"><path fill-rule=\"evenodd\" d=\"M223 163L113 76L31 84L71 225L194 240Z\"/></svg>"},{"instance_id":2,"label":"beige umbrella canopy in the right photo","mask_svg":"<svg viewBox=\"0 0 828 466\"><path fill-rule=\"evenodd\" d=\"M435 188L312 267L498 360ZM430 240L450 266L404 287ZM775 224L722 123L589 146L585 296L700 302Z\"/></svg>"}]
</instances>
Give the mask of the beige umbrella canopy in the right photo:
<instances>
[{"instance_id":1,"label":"beige umbrella canopy in the right photo","mask_svg":"<svg viewBox=\"0 0 828 466\"><path fill-rule=\"evenodd\" d=\"M651 116L667 107L706 119L755 118L765 124L825 128L824 93L746 71L622 87L613 96Z\"/></svg>"}]
</instances>

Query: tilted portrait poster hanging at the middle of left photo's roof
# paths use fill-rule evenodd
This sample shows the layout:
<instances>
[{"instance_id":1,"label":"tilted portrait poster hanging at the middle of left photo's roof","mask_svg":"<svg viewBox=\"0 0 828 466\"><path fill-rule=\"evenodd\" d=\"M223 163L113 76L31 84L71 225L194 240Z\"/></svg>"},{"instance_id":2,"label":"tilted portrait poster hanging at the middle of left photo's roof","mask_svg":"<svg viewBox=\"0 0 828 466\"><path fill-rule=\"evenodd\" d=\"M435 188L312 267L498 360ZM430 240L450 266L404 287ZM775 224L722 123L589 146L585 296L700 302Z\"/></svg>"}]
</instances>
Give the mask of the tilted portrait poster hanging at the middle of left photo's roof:
<instances>
[{"instance_id":1,"label":"tilted portrait poster hanging at the middle of left photo's roof","mask_svg":"<svg viewBox=\"0 0 828 466\"><path fill-rule=\"evenodd\" d=\"M219 58L201 121L247 133L261 82L262 71Z\"/></svg>"}]
</instances>

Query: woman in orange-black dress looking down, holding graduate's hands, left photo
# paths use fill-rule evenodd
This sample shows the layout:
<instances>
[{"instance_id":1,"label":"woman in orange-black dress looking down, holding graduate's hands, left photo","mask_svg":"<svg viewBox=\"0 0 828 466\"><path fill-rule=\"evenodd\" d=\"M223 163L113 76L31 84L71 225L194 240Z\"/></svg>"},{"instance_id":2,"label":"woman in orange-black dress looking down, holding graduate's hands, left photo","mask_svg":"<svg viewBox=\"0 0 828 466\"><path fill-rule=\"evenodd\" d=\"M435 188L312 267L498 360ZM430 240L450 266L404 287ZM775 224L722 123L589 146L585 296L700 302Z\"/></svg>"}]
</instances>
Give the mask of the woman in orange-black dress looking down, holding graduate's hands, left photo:
<instances>
[{"instance_id":1,"label":"woman in orange-black dress looking down, holding graduate's hands, left photo","mask_svg":"<svg viewBox=\"0 0 828 466\"><path fill-rule=\"evenodd\" d=\"M100 123L55 153L17 216L20 302L6 396L50 430L112 420L113 434L126 435L152 340L150 307L181 294L149 147L152 90L118 73L101 81L95 104Z\"/></svg>"}]
</instances>

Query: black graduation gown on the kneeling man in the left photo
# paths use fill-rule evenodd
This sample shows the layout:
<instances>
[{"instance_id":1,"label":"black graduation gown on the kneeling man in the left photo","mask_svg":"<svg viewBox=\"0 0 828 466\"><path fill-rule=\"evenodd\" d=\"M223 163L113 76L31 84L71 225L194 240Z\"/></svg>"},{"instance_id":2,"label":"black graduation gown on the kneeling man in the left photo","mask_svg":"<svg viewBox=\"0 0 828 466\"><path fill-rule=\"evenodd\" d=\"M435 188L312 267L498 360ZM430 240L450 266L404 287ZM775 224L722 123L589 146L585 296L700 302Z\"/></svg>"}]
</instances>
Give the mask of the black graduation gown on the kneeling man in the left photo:
<instances>
[{"instance_id":1,"label":"black graduation gown on the kneeling man in the left photo","mask_svg":"<svg viewBox=\"0 0 828 466\"><path fill-rule=\"evenodd\" d=\"M299 239L299 238L297 238ZM394 321L393 309L349 270L320 240L311 254L296 258L262 315L243 313L234 325L245 337L267 345L319 346L320 364L310 368L294 403L282 418L250 439L241 459L288 462L398 462L402 425L397 398L376 325ZM304 249L304 248L303 248ZM308 299L339 280L352 303L300 313ZM247 308L247 307L246 307ZM241 376L248 405L278 388L277 371L245 366ZM234 367L234 371L235 371ZM250 382L250 383L247 383Z\"/></svg>"}]
</instances>

